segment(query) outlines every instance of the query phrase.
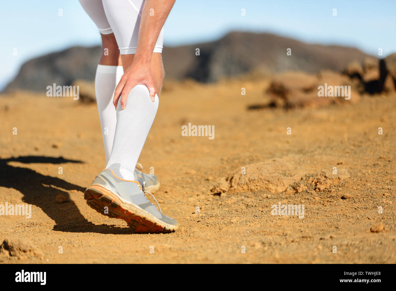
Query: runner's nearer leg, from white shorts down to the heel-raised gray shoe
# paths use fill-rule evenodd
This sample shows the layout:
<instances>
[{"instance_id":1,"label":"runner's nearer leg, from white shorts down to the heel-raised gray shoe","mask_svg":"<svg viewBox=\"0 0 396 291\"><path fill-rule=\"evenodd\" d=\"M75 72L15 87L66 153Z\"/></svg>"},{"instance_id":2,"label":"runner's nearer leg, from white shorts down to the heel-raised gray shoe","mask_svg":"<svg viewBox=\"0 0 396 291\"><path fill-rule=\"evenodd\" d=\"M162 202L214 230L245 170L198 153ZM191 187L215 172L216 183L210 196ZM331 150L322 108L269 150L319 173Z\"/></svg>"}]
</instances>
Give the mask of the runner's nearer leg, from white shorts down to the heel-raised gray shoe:
<instances>
[{"instance_id":1,"label":"runner's nearer leg, from white shorts down to the heel-raised gray shoe","mask_svg":"<svg viewBox=\"0 0 396 291\"><path fill-rule=\"evenodd\" d=\"M130 64L137 50L141 11L147 2L103 0L102 3L117 40L124 68L133 68ZM150 61L150 83L154 83L150 87L156 87L158 92L164 78L161 59L163 37L161 29ZM150 46L149 55L151 49ZM148 88L141 84L128 91L128 106L121 110L118 102L116 109L117 124L107 167L86 189L84 199L90 207L104 215L125 220L133 232L172 232L178 228L177 221L162 213L160 205L156 207L147 200L146 181L141 175L134 175L137 159L157 112L158 95L155 95L153 102Z\"/></svg>"}]
</instances>

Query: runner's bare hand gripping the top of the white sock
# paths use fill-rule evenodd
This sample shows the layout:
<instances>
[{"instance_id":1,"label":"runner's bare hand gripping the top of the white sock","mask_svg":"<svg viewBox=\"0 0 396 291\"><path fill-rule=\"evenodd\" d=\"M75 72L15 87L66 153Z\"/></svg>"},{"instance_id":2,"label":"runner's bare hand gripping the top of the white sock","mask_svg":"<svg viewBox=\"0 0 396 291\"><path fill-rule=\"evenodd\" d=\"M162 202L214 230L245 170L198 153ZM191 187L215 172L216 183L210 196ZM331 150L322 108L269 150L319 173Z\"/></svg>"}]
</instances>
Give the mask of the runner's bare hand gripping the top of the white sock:
<instances>
[{"instance_id":1,"label":"runner's bare hand gripping the top of the white sock","mask_svg":"<svg viewBox=\"0 0 396 291\"><path fill-rule=\"evenodd\" d=\"M151 74L150 63L133 62L126 72L124 72L124 75L122 75L121 80L114 91L113 104L116 110L120 95L121 109L124 110L129 91L138 84L143 84L148 88L150 98L152 102L154 102L154 97L157 92Z\"/></svg>"}]
</instances>

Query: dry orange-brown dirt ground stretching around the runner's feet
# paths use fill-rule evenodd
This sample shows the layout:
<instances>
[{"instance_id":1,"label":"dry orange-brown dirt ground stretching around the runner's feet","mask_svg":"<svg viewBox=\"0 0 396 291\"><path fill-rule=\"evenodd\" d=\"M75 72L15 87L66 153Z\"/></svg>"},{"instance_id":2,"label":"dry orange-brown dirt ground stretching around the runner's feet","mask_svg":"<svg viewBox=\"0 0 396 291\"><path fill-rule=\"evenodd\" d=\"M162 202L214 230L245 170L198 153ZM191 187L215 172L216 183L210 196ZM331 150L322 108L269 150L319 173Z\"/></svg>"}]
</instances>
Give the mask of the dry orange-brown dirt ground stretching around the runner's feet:
<instances>
[{"instance_id":1,"label":"dry orange-brown dirt ground stretching around the runner's feet","mask_svg":"<svg viewBox=\"0 0 396 291\"><path fill-rule=\"evenodd\" d=\"M32 217L0 216L0 243L28 245L3 249L0 262L395 263L396 94L286 111L259 106L267 86L164 86L139 162L154 167L155 196L179 221L171 234L131 234L86 205L83 191L105 166L96 105L1 96L0 204L32 204ZM189 122L214 125L214 139L182 136ZM272 215L279 202L304 204L304 218Z\"/></svg>"}]
</instances>

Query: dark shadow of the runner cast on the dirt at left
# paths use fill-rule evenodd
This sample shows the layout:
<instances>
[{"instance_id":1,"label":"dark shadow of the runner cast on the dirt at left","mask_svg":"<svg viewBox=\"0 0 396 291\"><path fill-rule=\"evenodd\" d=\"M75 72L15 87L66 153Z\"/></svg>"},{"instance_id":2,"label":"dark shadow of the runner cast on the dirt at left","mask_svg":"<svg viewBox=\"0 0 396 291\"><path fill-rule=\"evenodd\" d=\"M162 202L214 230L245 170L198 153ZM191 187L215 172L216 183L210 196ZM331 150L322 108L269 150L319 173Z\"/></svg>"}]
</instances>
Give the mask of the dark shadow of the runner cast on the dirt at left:
<instances>
[{"instance_id":1,"label":"dark shadow of the runner cast on the dirt at left","mask_svg":"<svg viewBox=\"0 0 396 291\"><path fill-rule=\"evenodd\" d=\"M18 190L24 195L22 200L25 204L40 207L55 221L56 224L53 230L63 232L95 232L101 234L132 233L128 227L121 228L106 224L96 225L84 218L78 210L77 205L70 200L69 193L65 190L84 192L85 188L56 177L42 175L31 169L13 167L8 165L8 162L63 164L82 163L81 161L46 156L20 156L17 158L0 159L0 186ZM56 197L59 194L64 195L69 202L58 204Z\"/></svg>"}]
</instances>

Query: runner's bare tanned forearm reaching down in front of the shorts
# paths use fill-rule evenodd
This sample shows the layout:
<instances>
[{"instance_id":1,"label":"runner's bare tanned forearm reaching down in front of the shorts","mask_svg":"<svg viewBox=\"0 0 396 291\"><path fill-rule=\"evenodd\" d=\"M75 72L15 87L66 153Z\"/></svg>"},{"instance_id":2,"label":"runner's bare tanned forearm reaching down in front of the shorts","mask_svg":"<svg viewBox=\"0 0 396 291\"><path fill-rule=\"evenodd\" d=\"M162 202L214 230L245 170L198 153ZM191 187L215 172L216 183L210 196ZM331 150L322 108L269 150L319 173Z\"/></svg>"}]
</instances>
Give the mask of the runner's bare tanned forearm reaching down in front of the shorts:
<instances>
[{"instance_id":1,"label":"runner's bare tanned forearm reaching down in front of the shorts","mask_svg":"<svg viewBox=\"0 0 396 291\"><path fill-rule=\"evenodd\" d=\"M146 0L143 6L134 61L151 61L152 51L175 0Z\"/></svg>"}]
</instances>

